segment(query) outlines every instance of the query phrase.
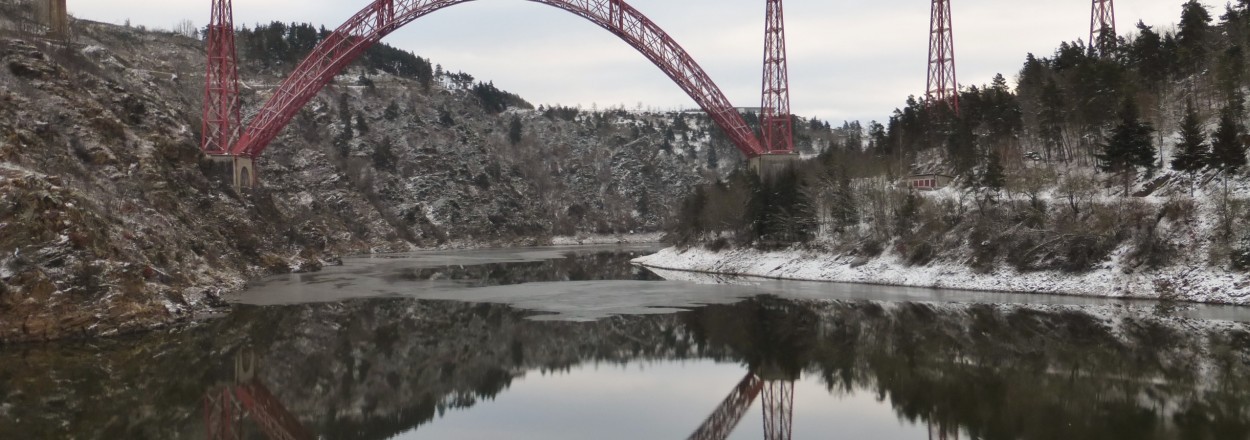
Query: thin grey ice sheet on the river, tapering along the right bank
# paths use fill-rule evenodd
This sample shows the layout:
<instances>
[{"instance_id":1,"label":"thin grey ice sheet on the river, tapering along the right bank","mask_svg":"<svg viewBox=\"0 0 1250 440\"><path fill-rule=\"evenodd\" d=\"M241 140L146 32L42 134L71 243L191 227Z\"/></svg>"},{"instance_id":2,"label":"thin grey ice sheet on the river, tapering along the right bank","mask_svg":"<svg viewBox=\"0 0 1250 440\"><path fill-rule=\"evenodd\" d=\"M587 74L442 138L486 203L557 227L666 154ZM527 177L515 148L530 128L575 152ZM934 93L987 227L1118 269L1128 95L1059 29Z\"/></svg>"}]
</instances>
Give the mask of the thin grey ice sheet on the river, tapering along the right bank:
<instances>
[{"instance_id":1,"label":"thin grey ice sheet on the river, tapering along the right bank","mask_svg":"<svg viewBox=\"0 0 1250 440\"><path fill-rule=\"evenodd\" d=\"M666 314L758 295L796 300L1030 304L1155 309L1156 301L1066 295L1005 294L880 285L739 278L629 265L645 248L545 248L414 252L350 259L340 268L266 280L236 299L249 305L336 302L404 298L505 304L540 320L598 320L612 315ZM1185 305L1180 316L1250 321L1250 309ZM1146 310L1150 312L1151 310Z\"/></svg>"}]
</instances>

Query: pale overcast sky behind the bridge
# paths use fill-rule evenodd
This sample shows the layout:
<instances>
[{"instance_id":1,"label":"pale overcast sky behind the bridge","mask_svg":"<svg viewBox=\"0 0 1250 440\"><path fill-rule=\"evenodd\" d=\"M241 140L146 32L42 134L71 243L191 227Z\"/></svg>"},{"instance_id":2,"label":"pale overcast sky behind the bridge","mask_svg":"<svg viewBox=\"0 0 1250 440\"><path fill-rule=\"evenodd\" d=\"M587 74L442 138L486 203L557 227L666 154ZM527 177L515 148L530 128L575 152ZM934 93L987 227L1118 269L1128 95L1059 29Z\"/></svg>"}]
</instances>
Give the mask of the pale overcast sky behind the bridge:
<instances>
[{"instance_id":1,"label":"pale overcast sky behind the bridge","mask_svg":"<svg viewBox=\"0 0 1250 440\"><path fill-rule=\"evenodd\" d=\"M759 106L761 0L629 0L665 29L739 106ZM1182 0L1120 0L1120 32L1145 20L1174 29ZM338 28L369 0L235 0L235 24L299 21ZM1209 6L1215 5L1206 1ZM209 0L69 0L81 19L149 28L209 20ZM884 120L925 89L929 1L790 0L791 108L802 116ZM1222 14L1212 8L1212 15ZM1014 79L1026 52L1050 55L1089 36L1090 0L952 0L960 85ZM438 11L386 42L538 104L684 109L695 104L628 44L562 10L479 0Z\"/></svg>"}]
</instances>

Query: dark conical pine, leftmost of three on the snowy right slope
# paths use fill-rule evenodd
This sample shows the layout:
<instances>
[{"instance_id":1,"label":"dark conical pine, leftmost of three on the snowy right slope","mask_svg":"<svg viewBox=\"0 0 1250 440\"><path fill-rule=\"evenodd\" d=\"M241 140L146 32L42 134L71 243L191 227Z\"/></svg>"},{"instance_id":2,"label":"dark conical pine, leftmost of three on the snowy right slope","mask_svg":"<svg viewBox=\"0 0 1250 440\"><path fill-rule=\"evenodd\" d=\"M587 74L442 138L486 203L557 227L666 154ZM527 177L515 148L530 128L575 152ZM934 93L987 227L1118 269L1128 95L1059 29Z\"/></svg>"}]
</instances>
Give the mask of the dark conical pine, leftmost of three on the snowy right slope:
<instances>
[{"instance_id":1,"label":"dark conical pine, leftmost of three on the snowy right slope","mask_svg":"<svg viewBox=\"0 0 1250 440\"><path fill-rule=\"evenodd\" d=\"M1111 131L1111 139L1102 145L1102 151L1095 155L1100 170L1120 175L1125 194L1129 192L1138 168L1154 170L1156 160L1154 142L1150 140L1152 132L1155 129L1141 121L1138 104L1128 99L1120 111L1120 125Z\"/></svg>"}]
</instances>

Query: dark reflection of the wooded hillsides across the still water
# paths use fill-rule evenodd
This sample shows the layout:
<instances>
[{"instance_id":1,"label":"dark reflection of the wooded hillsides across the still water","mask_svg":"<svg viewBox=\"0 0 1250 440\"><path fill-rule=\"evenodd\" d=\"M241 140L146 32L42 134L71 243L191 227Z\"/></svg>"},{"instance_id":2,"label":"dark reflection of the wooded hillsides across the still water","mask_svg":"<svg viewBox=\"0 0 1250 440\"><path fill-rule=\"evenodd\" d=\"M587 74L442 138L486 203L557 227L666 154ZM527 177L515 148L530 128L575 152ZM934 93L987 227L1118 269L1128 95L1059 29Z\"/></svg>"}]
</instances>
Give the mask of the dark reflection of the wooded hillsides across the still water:
<instances>
[{"instance_id":1,"label":"dark reflection of the wooded hillsides across the still water","mask_svg":"<svg viewBox=\"0 0 1250 440\"><path fill-rule=\"evenodd\" d=\"M140 340L6 351L0 416L18 424L0 424L0 438L196 436L202 394L231 378L242 346L260 356L258 379L324 438L389 438L528 371L669 359L808 372L830 392L868 390L902 418L979 439L1250 438L1245 325L1098 310L1115 318L775 298L598 322L409 300L244 308Z\"/></svg>"}]
</instances>

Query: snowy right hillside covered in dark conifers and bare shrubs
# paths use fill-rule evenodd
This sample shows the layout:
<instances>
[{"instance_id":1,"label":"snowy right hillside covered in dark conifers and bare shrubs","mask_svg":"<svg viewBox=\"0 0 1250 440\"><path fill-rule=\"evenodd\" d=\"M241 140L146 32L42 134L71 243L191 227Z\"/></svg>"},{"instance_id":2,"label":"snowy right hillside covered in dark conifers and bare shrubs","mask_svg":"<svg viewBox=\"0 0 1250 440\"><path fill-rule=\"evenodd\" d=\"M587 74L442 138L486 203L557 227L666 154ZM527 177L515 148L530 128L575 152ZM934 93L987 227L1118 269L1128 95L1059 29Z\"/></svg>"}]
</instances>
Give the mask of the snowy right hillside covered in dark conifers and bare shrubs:
<instances>
[{"instance_id":1,"label":"snowy right hillside covered in dark conifers and bare shrubs","mask_svg":"<svg viewBox=\"0 0 1250 440\"><path fill-rule=\"evenodd\" d=\"M1209 281L1250 270L1248 46L1244 1L1218 19L1186 2L1176 31L1139 24L1118 41L1064 42L1028 55L1014 89L1002 75L964 88L958 112L910 98L886 124L835 130L845 141L770 186L705 186L670 238L969 276L1120 274L1096 286L1106 294L1245 294ZM915 191L912 174L954 184Z\"/></svg>"}]
</instances>

